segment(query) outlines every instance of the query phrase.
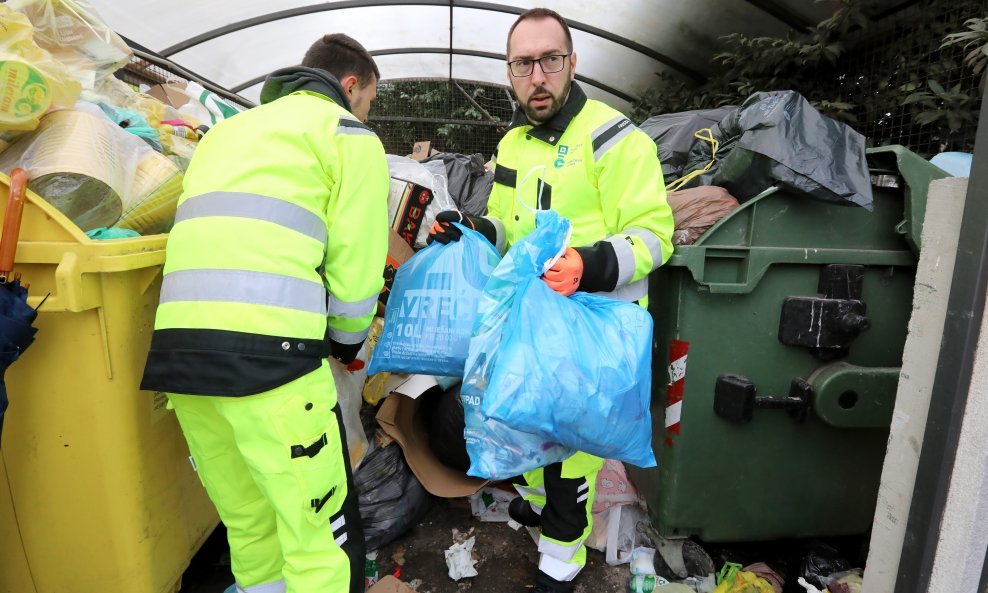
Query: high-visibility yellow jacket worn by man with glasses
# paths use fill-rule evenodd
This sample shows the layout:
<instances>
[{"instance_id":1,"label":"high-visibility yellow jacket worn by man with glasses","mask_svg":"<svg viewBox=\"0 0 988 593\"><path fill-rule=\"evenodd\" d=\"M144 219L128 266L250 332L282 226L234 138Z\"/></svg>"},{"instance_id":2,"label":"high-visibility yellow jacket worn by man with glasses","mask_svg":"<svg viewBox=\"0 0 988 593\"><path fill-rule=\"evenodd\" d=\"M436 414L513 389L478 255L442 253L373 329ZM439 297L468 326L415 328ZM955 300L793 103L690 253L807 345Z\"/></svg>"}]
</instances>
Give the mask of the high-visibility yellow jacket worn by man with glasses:
<instances>
[{"instance_id":1,"label":"high-visibility yellow jacket worn by man with glasses","mask_svg":"<svg viewBox=\"0 0 988 593\"><path fill-rule=\"evenodd\" d=\"M544 171L533 171L540 165ZM520 188L526 208L516 192L530 171ZM516 112L498 144L487 217L499 249L534 230L529 208L551 208L572 222L586 292L644 303L648 274L672 254L675 225L655 143L620 112L587 99L577 83L543 124Z\"/></svg>"}]
</instances>

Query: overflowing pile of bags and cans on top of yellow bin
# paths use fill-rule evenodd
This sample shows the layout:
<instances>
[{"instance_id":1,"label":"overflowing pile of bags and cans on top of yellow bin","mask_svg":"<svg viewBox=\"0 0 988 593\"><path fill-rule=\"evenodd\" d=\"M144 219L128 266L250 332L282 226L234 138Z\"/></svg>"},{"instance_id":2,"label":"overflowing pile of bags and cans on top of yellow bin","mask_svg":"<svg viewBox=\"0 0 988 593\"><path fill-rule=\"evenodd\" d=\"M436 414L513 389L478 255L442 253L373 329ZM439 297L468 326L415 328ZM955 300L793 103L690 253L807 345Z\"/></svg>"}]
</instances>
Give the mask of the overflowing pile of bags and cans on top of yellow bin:
<instances>
[{"instance_id":1,"label":"overflowing pile of bags and cans on top of yellow bin","mask_svg":"<svg viewBox=\"0 0 988 593\"><path fill-rule=\"evenodd\" d=\"M0 172L93 238L167 232L196 144L243 107L195 82L135 88L126 43L85 0L0 5Z\"/></svg>"}]
</instances>

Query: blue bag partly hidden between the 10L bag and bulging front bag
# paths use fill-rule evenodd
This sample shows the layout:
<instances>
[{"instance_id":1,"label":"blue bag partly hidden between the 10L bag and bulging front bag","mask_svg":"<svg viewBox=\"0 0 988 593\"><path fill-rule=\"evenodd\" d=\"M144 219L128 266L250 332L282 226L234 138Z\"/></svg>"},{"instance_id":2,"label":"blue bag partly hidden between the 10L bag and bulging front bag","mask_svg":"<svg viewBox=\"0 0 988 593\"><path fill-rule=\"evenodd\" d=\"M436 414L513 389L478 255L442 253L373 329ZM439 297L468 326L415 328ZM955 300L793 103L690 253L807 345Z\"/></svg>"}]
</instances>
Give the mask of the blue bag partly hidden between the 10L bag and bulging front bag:
<instances>
[{"instance_id":1,"label":"blue bag partly hidden between the 10L bag and bulging front bag","mask_svg":"<svg viewBox=\"0 0 988 593\"><path fill-rule=\"evenodd\" d=\"M466 424L463 436L470 456L468 475L503 480L562 461L575 452L551 438L516 430L483 413L488 382L500 363L504 332L518 296L517 286L542 275L543 262L561 253L569 228L569 221L555 212L536 213L536 229L511 247L484 287L460 390Z\"/></svg>"}]
</instances>

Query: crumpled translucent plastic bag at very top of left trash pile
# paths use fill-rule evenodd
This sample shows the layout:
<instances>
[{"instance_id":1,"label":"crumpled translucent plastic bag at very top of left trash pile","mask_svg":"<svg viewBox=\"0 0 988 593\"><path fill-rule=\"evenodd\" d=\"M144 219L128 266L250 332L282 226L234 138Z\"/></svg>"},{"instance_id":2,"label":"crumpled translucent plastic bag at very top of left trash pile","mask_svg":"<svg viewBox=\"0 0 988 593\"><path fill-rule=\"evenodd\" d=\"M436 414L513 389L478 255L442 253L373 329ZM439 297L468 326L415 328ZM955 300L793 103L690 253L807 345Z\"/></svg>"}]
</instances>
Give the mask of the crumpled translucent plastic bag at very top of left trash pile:
<instances>
[{"instance_id":1,"label":"crumpled translucent plastic bag at very top of left trash pile","mask_svg":"<svg viewBox=\"0 0 988 593\"><path fill-rule=\"evenodd\" d=\"M7 6L31 19L35 42L68 66L84 88L94 88L133 55L86 0L8 0Z\"/></svg>"}]
</instances>

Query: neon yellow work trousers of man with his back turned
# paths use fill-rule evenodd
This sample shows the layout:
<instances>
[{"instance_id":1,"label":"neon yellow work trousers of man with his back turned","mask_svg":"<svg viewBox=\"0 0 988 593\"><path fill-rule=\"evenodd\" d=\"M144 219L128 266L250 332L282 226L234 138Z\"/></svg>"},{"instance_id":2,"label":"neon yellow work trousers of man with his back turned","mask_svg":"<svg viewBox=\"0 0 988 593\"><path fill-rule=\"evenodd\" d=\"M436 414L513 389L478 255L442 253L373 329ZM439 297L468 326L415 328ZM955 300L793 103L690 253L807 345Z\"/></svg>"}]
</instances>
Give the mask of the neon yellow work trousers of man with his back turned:
<instances>
[{"instance_id":1,"label":"neon yellow work trousers of man with his back turned","mask_svg":"<svg viewBox=\"0 0 988 593\"><path fill-rule=\"evenodd\" d=\"M364 539L333 376L244 397L168 394L246 593L363 591Z\"/></svg>"}]
</instances>

